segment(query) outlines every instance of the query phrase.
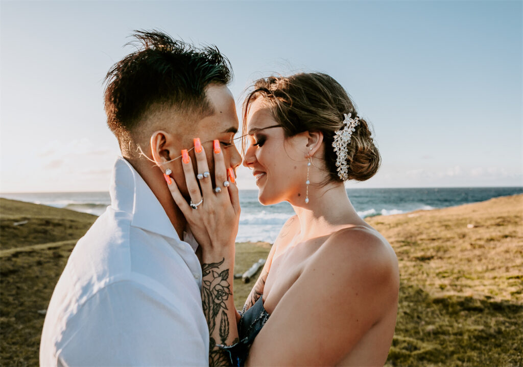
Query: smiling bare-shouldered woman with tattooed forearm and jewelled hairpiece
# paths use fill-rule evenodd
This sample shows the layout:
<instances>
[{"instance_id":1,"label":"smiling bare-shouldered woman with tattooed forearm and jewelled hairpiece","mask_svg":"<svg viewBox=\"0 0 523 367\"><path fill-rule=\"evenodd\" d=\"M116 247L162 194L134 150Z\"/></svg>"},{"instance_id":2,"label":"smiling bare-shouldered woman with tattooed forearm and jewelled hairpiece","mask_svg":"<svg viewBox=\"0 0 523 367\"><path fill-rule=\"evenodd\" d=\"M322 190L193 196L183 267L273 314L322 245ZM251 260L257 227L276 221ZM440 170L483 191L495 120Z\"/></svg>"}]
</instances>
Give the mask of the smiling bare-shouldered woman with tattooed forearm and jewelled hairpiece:
<instances>
[{"instance_id":1,"label":"smiling bare-shouldered woman with tattooed forearm and jewelled hairpiece","mask_svg":"<svg viewBox=\"0 0 523 367\"><path fill-rule=\"evenodd\" d=\"M343 87L319 73L256 81L243 117L243 164L253 170L260 203L287 201L296 215L272 245L240 316L232 297L234 240L213 241L215 231L236 234L240 213L219 149L215 193L200 180L202 195L191 194L191 209L172 188L202 246L211 364L383 365L396 322L397 259L358 216L344 186L379 167L367 123ZM199 172L206 171L205 152L196 157ZM184 170L194 187L192 165ZM195 210L201 198L207 205ZM230 226L213 228L216 216Z\"/></svg>"}]
</instances>

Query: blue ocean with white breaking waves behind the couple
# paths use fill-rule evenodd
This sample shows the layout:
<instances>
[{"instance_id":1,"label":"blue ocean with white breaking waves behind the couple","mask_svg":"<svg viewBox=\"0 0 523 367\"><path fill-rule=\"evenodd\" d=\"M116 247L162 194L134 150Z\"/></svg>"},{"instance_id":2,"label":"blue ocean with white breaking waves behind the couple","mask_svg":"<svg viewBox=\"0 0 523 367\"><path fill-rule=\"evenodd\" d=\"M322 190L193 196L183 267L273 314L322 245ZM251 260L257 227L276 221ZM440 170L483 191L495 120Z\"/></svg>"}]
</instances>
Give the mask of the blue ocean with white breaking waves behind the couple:
<instances>
[{"instance_id":1,"label":"blue ocean with white breaking waves behind the couple","mask_svg":"<svg viewBox=\"0 0 523 367\"><path fill-rule=\"evenodd\" d=\"M523 187L459 188L351 188L347 194L360 217L401 214L413 210L431 210L493 197L523 193ZM108 192L83 193L2 193L1 197L101 215L108 205ZM236 241L273 243L285 221L294 214L288 203L263 206L257 190L241 190L240 230Z\"/></svg>"}]
</instances>

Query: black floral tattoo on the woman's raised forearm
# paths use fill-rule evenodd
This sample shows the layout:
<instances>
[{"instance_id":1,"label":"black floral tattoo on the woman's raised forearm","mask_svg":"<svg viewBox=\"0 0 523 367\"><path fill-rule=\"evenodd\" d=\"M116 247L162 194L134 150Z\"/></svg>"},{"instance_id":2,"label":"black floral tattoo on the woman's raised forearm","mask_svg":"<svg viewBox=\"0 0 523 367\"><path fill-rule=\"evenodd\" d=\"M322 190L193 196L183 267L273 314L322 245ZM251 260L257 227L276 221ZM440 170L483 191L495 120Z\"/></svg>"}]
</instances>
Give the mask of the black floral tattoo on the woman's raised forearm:
<instances>
[{"instance_id":1,"label":"black floral tattoo on the woman's raised forearm","mask_svg":"<svg viewBox=\"0 0 523 367\"><path fill-rule=\"evenodd\" d=\"M209 326L209 365L228 365L228 359L218 344L228 345L237 342L237 338L228 343L230 336L229 311L226 302L232 296L229 283L229 269L221 269L225 261L219 263L202 264L202 306L203 313ZM218 329L216 328L218 326ZM236 325L233 325L236 327Z\"/></svg>"}]
</instances>

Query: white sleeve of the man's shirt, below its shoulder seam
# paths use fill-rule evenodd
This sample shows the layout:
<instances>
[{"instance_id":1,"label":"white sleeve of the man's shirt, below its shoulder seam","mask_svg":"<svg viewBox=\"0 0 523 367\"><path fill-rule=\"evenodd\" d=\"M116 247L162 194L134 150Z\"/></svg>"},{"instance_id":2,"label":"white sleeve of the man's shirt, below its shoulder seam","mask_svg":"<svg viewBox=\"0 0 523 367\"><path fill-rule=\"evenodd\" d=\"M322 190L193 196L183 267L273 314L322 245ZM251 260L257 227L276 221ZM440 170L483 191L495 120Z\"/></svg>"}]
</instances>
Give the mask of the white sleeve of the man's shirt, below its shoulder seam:
<instances>
[{"instance_id":1,"label":"white sleeve of the man's shirt, below its shoulder seam","mask_svg":"<svg viewBox=\"0 0 523 367\"><path fill-rule=\"evenodd\" d=\"M142 283L111 283L67 321L57 357L66 366L208 365L198 316Z\"/></svg>"}]
</instances>

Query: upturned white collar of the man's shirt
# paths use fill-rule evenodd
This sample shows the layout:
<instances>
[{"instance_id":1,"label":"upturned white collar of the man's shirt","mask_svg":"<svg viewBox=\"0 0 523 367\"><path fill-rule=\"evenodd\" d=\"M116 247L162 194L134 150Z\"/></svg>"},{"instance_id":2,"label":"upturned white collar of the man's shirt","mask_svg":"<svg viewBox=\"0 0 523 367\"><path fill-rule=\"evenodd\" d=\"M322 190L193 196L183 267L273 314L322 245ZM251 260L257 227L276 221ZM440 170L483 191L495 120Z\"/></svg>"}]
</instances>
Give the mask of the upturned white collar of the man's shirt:
<instances>
[{"instance_id":1,"label":"upturned white collar of the man's shirt","mask_svg":"<svg viewBox=\"0 0 523 367\"><path fill-rule=\"evenodd\" d=\"M131 215L131 226L180 241L178 233L151 188L122 157L117 158L113 167L109 192L111 206Z\"/></svg>"}]
</instances>

